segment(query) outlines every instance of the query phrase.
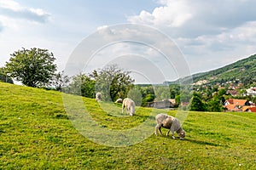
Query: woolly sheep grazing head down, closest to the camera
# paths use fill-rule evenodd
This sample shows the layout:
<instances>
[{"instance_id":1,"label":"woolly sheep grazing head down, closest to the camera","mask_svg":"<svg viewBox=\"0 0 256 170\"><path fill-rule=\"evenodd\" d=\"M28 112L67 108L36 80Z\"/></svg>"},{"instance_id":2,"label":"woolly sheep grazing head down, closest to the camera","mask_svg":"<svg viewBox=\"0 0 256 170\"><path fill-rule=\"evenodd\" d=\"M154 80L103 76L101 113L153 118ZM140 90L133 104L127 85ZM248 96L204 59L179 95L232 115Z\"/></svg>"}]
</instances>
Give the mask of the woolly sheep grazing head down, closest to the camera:
<instances>
[{"instance_id":1,"label":"woolly sheep grazing head down, closest to the camera","mask_svg":"<svg viewBox=\"0 0 256 170\"><path fill-rule=\"evenodd\" d=\"M157 130L161 132L161 127L168 128L169 131L166 133L166 136L169 135L170 131L172 131L172 139L175 139L174 132L176 132L180 139L185 138L185 131L183 130L183 127L181 127L180 122L177 118L173 116L168 116L166 114L160 113L157 116L155 116L156 126L155 126L155 135L157 135Z\"/></svg>"}]
</instances>

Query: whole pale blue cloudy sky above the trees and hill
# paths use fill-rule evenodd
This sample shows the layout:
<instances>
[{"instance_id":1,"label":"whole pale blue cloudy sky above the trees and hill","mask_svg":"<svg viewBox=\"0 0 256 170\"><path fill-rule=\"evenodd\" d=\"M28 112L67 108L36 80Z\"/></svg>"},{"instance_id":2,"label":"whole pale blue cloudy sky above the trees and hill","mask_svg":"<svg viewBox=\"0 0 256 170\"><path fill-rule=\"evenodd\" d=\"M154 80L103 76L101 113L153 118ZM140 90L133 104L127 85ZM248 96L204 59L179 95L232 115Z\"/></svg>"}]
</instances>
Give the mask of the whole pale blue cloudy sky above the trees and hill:
<instances>
[{"instance_id":1,"label":"whole pale blue cloudy sky above the trees and hill","mask_svg":"<svg viewBox=\"0 0 256 170\"><path fill-rule=\"evenodd\" d=\"M254 0L0 0L0 66L21 48L46 48L59 71L65 70L73 54L81 59L88 40L97 38L93 57L80 62L85 71L118 63L132 70L137 82L170 81L256 54L255 6ZM119 42L111 42L116 35ZM101 43L105 40L108 45ZM174 54L166 50L169 40Z\"/></svg>"}]
</instances>

